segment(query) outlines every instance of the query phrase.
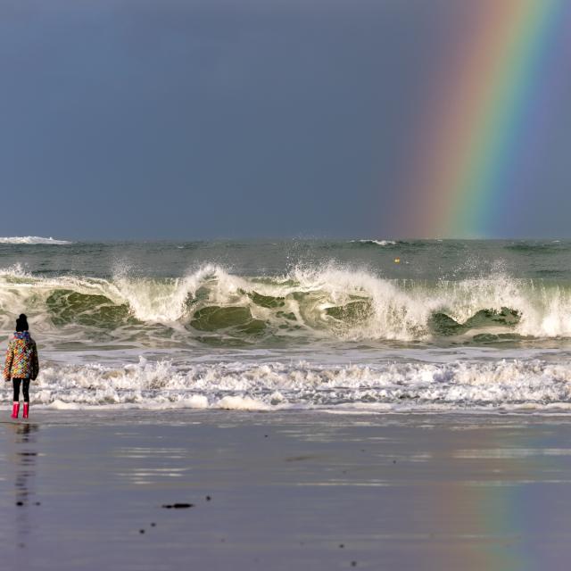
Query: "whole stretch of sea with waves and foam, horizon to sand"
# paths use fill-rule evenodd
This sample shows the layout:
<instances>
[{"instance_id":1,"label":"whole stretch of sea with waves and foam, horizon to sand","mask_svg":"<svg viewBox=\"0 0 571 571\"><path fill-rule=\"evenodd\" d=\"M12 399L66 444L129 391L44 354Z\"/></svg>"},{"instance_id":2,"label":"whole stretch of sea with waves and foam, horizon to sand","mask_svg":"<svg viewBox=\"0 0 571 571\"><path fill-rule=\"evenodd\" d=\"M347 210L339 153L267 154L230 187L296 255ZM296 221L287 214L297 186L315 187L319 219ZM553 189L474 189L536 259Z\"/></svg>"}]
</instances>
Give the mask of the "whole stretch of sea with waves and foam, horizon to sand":
<instances>
[{"instance_id":1,"label":"whole stretch of sea with waves and foam, horizon to sand","mask_svg":"<svg viewBox=\"0 0 571 571\"><path fill-rule=\"evenodd\" d=\"M0 238L0 347L21 312L35 407L571 405L571 241Z\"/></svg>"}]
</instances>

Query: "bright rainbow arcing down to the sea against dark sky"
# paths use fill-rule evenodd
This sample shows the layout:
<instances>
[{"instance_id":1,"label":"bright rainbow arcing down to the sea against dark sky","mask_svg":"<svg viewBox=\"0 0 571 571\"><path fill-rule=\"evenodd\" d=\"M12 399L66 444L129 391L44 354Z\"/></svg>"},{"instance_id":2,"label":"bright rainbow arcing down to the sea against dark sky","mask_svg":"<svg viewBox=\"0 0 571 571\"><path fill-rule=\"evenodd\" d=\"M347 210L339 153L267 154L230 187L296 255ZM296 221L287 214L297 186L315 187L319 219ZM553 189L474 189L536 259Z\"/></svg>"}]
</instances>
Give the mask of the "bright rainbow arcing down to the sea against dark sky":
<instances>
[{"instance_id":1,"label":"bright rainbow arcing down to the sea against dark sky","mask_svg":"<svg viewBox=\"0 0 571 571\"><path fill-rule=\"evenodd\" d=\"M524 176L549 144L553 110L568 105L558 87L571 60L571 2L476 0L460 20L419 129L409 236L501 236L529 199Z\"/></svg>"}]
</instances>

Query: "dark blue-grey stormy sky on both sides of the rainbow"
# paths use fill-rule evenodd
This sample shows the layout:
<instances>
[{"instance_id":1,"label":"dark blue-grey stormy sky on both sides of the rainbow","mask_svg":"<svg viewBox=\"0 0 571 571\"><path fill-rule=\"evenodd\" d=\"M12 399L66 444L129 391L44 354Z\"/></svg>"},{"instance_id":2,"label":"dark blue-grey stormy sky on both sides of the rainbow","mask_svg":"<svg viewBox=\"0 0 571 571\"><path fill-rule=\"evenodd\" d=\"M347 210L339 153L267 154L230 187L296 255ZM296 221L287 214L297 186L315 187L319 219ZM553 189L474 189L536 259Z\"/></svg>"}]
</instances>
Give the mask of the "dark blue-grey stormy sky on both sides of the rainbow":
<instances>
[{"instance_id":1,"label":"dark blue-grey stormy sky on both sides of the rainbow","mask_svg":"<svg viewBox=\"0 0 571 571\"><path fill-rule=\"evenodd\" d=\"M0 0L0 236L401 236L459 4ZM570 111L506 236L571 236Z\"/></svg>"}]
</instances>

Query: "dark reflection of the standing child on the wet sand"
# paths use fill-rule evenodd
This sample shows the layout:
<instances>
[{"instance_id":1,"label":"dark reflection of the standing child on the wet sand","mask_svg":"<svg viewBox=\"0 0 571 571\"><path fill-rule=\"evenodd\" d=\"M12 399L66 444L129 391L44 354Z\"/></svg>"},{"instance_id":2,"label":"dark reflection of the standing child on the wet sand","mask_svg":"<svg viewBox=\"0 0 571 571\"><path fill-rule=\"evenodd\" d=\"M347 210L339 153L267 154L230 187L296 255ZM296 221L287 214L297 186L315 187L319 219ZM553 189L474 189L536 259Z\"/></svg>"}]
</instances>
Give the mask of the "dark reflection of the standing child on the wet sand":
<instances>
[{"instance_id":1,"label":"dark reflection of the standing child on the wet sand","mask_svg":"<svg viewBox=\"0 0 571 571\"><path fill-rule=\"evenodd\" d=\"M29 506L39 505L33 501L33 483L36 476L36 434L38 426L34 424L10 425L14 435L14 451L12 454L14 475L14 502L16 506L16 525L18 546L26 547L30 533L32 517Z\"/></svg>"}]
</instances>

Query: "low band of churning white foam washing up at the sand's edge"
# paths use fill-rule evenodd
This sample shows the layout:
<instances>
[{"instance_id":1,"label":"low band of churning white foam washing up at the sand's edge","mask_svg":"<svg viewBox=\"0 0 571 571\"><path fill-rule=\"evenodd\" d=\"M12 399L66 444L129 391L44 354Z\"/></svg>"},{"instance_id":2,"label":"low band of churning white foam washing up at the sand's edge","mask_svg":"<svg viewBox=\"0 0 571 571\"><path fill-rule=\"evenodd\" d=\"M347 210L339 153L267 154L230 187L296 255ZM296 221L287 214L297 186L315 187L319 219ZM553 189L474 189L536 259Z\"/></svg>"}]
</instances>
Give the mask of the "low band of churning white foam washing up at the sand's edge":
<instances>
[{"instance_id":1,"label":"low band of churning white foam washing up at the sand's edge","mask_svg":"<svg viewBox=\"0 0 571 571\"><path fill-rule=\"evenodd\" d=\"M35 405L227 410L552 410L571 405L571 366L543 360L319 366L149 361L112 368L54 364ZM0 389L4 400L8 387Z\"/></svg>"}]
</instances>

